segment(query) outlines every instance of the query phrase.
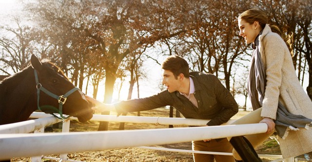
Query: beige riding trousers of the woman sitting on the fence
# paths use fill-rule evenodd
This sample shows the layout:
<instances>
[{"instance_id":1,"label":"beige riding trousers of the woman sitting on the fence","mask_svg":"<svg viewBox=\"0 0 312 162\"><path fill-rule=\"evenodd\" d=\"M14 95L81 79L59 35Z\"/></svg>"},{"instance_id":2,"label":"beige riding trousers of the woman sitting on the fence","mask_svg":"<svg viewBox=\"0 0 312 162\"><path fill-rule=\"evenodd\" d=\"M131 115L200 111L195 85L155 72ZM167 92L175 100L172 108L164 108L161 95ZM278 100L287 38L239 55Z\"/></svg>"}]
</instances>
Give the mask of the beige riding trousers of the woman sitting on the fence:
<instances>
[{"instance_id":1,"label":"beige riding trousers of the woman sitting on the fence","mask_svg":"<svg viewBox=\"0 0 312 162\"><path fill-rule=\"evenodd\" d=\"M256 124L259 123L263 118L261 115L262 108L258 108L249 114L243 116L240 119L237 119L234 123L231 125L241 125L241 124ZM273 131L274 132L274 131ZM256 148L257 146L261 145L265 140L267 140L272 134L266 134L266 133L259 133L259 134L251 134L246 135L245 137L248 139L248 141ZM231 137L228 137L228 140L230 141ZM242 160L238 153L233 149L233 156L236 160Z\"/></svg>"}]
</instances>

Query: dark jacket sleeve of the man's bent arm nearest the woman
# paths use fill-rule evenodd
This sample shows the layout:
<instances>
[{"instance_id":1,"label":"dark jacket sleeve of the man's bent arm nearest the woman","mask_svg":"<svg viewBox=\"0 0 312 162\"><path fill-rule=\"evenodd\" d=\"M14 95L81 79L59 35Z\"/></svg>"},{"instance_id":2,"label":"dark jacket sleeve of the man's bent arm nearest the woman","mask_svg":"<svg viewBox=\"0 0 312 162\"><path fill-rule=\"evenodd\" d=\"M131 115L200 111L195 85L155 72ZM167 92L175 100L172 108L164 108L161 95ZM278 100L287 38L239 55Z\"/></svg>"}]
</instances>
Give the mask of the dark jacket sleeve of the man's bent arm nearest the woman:
<instances>
[{"instance_id":1,"label":"dark jacket sleeve of the man's bent arm nearest the woman","mask_svg":"<svg viewBox=\"0 0 312 162\"><path fill-rule=\"evenodd\" d=\"M212 118L207 125L219 126L228 122L238 112L238 105L233 95L222 85L220 80L216 76L213 77L213 79L215 83L215 97L217 102L222 105L223 109L214 118Z\"/></svg>"}]
</instances>

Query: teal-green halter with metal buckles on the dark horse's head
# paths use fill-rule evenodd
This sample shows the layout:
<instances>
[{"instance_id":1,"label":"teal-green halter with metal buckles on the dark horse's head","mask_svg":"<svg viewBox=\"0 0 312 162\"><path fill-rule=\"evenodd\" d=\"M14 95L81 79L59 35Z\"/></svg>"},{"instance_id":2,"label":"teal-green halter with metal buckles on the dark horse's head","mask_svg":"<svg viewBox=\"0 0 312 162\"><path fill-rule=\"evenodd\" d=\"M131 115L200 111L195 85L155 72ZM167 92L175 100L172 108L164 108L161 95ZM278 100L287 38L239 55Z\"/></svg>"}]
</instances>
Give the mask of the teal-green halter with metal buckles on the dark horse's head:
<instances>
[{"instance_id":1,"label":"teal-green halter with metal buckles on the dark horse's head","mask_svg":"<svg viewBox=\"0 0 312 162\"><path fill-rule=\"evenodd\" d=\"M45 94L49 95L50 97L52 98L55 98L58 100L59 102L59 109L53 107L53 106L45 106L45 107L48 107L48 108L52 108L51 112L45 112L45 113L50 113L51 115L55 116L56 118L59 118L61 120L64 120L64 119L67 119L69 118L70 116L66 116L64 117L63 116L63 112L62 112L62 109L63 109L63 105L65 104L66 100L67 100L67 97L69 95L71 95L73 92L75 92L76 90L79 90L77 87L73 88L72 90L69 90L68 92L66 92L64 95L56 95L54 93L52 93L51 91L45 89L44 87L42 87L42 85L39 83L39 79L38 79L38 73L36 70L34 70L35 72L35 80L36 80L36 88L37 88L37 107L39 110L41 110L40 106L39 106L39 100L40 100L40 90L43 91ZM41 110L42 112L44 112L43 110ZM54 114L54 112L56 113L59 113L60 117L56 116Z\"/></svg>"}]
</instances>

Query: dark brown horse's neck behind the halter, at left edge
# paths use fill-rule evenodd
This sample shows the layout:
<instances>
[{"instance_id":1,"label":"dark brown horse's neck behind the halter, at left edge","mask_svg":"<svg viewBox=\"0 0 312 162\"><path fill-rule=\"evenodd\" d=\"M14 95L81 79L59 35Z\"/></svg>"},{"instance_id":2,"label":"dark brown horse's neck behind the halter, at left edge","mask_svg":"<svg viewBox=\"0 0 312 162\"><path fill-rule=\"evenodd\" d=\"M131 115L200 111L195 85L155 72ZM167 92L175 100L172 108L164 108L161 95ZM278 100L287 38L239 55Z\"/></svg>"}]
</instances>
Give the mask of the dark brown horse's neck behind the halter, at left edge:
<instances>
[{"instance_id":1,"label":"dark brown horse's neck behind the halter, at left edge","mask_svg":"<svg viewBox=\"0 0 312 162\"><path fill-rule=\"evenodd\" d=\"M8 121L26 120L37 109L36 83L33 72L32 68L27 68L1 82L0 124L3 123L3 119Z\"/></svg>"}]
</instances>

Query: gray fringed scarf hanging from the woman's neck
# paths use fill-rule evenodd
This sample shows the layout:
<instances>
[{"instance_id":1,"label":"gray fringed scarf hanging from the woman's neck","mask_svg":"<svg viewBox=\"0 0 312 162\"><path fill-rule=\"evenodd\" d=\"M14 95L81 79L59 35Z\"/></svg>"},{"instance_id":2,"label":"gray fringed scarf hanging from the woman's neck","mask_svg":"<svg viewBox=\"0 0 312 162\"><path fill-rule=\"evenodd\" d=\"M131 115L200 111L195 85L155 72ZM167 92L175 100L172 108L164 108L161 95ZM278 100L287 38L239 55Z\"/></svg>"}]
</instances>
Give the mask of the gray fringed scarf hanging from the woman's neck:
<instances>
[{"instance_id":1,"label":"gray fringed scarf hanging from the woman's neck","mask_svg":"<svg viewBox=\"0 0 312 162\"><path fill-rule=\"evenodd\" d=\"M262 31L258 36L262 34ZM253 106L253 109L262 107L264 92L266 87L266 74L264 64L258 49L258 36L253 44L253 55L250 65L250 72L248 76L248 94ZM260 96L258 96L260 95ZM294 115L278 102L276 112L275 130L276 134L285 139L288 136L289 130L299 130L299 128L308 128L311 125L312 119L308 119L302 115Z\"/></svg>"}]
</instances>

